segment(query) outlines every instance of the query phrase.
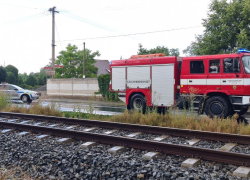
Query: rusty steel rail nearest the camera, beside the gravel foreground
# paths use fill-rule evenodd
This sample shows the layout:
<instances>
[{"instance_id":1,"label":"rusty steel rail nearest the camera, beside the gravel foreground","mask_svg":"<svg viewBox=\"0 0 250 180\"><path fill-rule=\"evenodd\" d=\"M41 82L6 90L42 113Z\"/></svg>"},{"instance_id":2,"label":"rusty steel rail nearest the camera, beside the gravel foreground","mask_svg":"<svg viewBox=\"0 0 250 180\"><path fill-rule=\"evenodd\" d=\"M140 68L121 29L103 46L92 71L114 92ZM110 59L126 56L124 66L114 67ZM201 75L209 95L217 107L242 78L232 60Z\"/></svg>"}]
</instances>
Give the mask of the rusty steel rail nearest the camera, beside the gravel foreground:
<instances>
[{"instance_id":1,"label":"rusty steel rail nearest the camera, beside the gravel foreground","mask_svg":"<svg viewBox=\"0 0 250 180\"><path fill-rule=\"evenodd\" d=\"M202 160L216 161L234 165L249 165L250 155L241 153L224 152L213 149L197 148L186 145L168 144L149 140L139 140L119 136L103 135L83 131L65 130L0 121L1 127L15 128L16 130L26 130L33 133L46 133L61 137L71 137L76 140L95 141L102 144L119 145L129 148L142 149L148 151L158 151L165 154L174 154L186 157L196 157Z\"/></svg>"}]
</instances>

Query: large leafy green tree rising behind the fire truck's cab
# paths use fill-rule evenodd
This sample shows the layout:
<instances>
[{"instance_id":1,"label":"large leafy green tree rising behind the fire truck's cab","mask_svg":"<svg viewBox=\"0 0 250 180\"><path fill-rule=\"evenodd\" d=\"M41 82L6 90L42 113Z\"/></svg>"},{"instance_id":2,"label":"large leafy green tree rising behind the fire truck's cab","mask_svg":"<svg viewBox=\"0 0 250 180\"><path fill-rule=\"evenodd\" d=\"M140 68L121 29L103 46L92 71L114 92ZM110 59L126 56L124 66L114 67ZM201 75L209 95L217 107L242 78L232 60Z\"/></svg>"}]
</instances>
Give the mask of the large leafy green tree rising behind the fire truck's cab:
<instances>
[{"instance_id":1,"label":"large leafy green tree rising behind the fire truck's cab","mask_svg":"<svg viewBox=\"0 0 250 180\"><path fill-rule=\"evenodd\" d=\"M233 53L250 49L250 0L213 0L205 31L183 51L189 55Z\"/></svg>"}]
</instances>

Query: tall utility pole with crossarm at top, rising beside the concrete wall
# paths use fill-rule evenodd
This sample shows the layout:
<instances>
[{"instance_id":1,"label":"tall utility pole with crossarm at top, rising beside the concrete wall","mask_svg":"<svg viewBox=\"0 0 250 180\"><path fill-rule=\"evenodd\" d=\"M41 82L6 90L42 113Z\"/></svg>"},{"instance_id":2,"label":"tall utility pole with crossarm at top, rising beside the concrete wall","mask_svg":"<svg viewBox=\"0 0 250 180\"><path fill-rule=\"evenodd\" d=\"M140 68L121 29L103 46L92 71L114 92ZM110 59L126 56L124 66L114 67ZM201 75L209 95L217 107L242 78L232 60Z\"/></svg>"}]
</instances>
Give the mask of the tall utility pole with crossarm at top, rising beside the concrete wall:
<instances>
[{"instance_id":1,"label":"tall utility pole with crossarm at top, rising beside the concrete wall","mask_svg":"<svg viewBox=\"0 0 250 180\"><path fill-rule=\"evenodd\" d=\"M52 12L52 71L55 72L55 13L59 11L55 10L56 7L49 8L49 11ZM55 78L55 74L52 74L52 78Z\"/></svg>"}]
</instances>

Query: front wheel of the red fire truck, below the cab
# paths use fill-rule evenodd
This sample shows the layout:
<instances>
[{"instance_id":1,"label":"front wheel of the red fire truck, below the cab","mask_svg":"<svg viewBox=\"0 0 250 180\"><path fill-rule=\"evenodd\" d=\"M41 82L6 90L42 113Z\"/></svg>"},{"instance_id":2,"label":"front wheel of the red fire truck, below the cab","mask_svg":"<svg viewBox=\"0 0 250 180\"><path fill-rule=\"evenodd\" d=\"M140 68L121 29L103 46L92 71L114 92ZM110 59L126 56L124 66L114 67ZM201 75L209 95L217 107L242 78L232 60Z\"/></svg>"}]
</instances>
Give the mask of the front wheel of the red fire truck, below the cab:
<instances>
[{"instance_id":1,"label":"front wheel of the red fire truck, below the cab","mask_svg":"<svg viewBox=\"0 0 250 180\"><path fill-rule=\"evenodd\" d=\"M215 116L226 118L230 114L230 105L224 97L212 96L207 99L204 110L211 118Z\"/></svg>"}]
</instances>

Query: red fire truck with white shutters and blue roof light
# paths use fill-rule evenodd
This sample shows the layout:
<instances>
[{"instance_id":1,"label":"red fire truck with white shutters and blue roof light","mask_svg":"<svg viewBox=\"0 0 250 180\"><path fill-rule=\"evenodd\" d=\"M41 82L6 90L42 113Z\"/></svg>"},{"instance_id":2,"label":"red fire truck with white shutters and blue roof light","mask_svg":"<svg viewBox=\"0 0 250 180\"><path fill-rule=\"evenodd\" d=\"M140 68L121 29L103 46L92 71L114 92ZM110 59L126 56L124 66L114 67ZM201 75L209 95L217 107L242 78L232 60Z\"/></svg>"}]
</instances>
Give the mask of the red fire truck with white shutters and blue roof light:
<instances>
[{"instance_id":1,"label":"red fire truck with white shutters and blue roof light","mask_svg":"<svg viewBox=\"0 0 250 180\"><path fill-rule=\"evenodd\" d=\"M250 105L250 51L195 57L135 55L110 62L110 91L128 109L166 108L194 97L191 106L210 117L244 114Z\"/></svg>"}]
</instances>

